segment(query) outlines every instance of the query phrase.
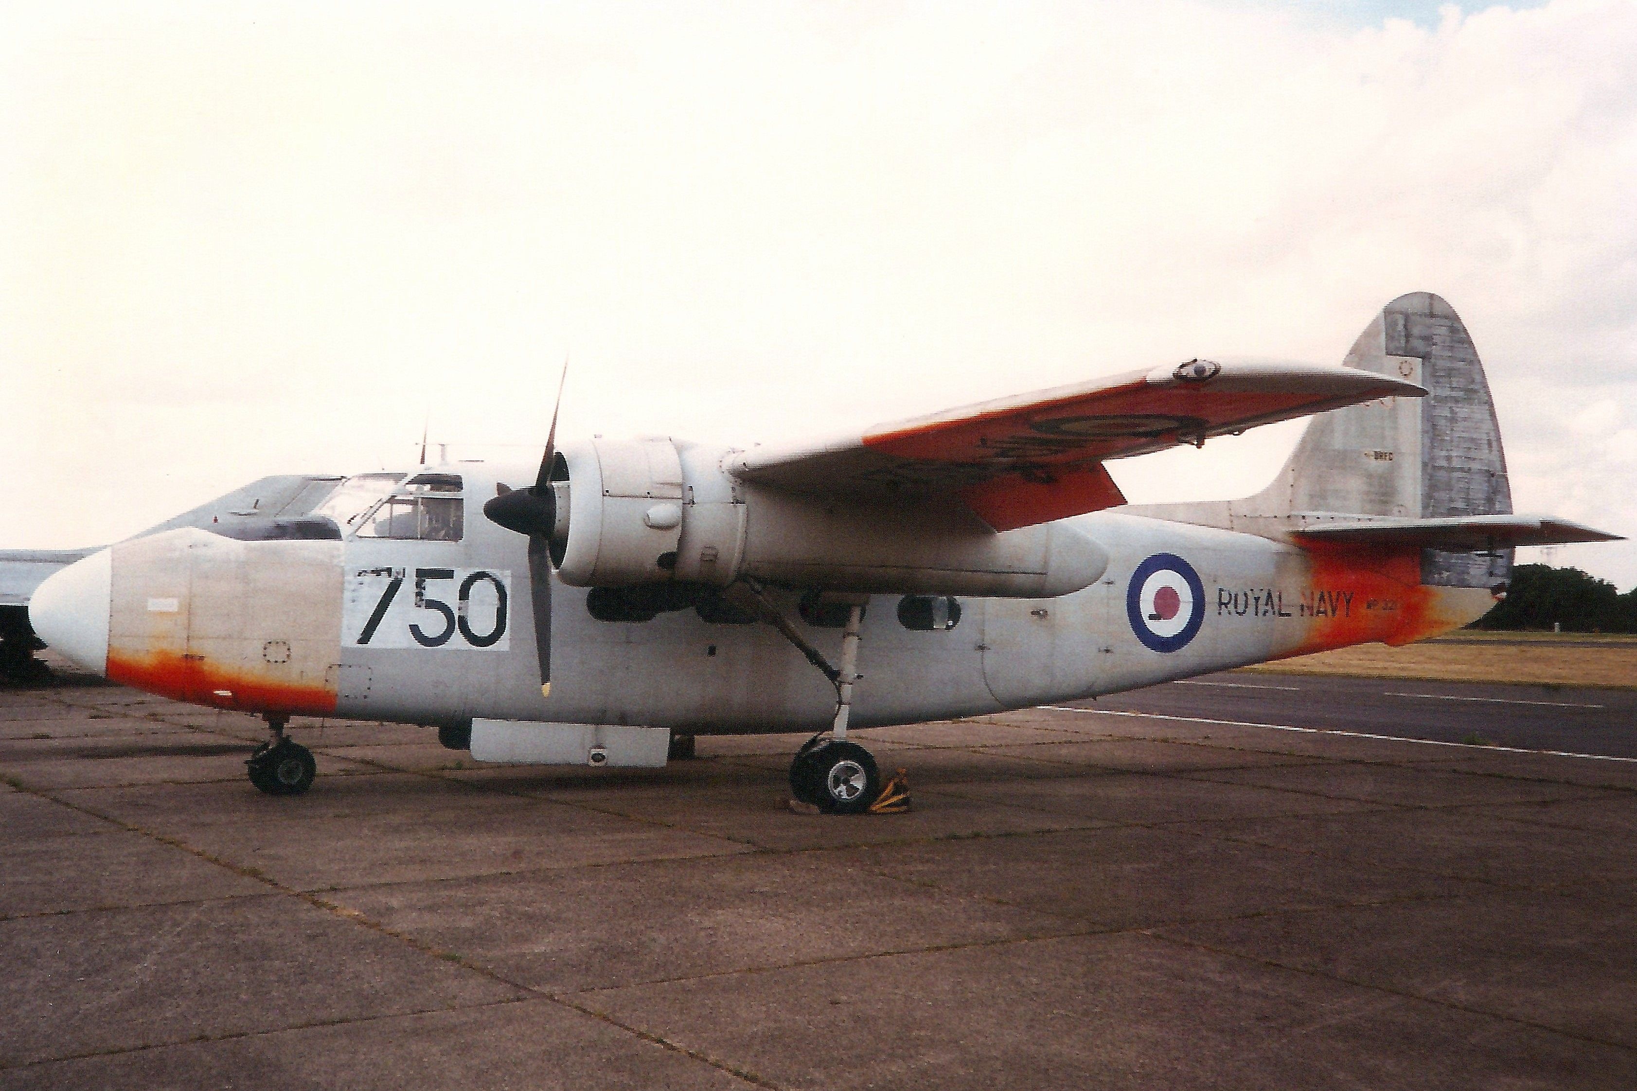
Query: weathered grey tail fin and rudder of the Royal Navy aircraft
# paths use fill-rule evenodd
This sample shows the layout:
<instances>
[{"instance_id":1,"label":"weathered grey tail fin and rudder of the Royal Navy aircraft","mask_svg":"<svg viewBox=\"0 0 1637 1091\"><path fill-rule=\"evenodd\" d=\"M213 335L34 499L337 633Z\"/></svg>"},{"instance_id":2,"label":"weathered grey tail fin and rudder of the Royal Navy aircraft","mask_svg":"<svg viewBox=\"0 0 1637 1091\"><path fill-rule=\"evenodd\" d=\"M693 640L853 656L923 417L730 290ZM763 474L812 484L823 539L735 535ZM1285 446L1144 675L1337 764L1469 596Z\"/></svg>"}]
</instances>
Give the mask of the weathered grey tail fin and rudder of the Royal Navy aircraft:
<instances>
[{"instance_id":1,"label":"weathered grey tail fin and rudder of the Royal Navy aircraft","mask_svg":"<svg viewBox=\"0 0 1637 1091\"><path fill-rule=\"evenodd\" d=\"M1506 453L1483 363L1460 316L1427 291L1382 308L1347 353L1347 366L1427 389L1313 419L1278 478L1252 497L1265 515L1450 519L1508 515ZM1427 550L1421 582L1488 587L1511 571L1511 550Z\"/></svg>"}]
</instances>

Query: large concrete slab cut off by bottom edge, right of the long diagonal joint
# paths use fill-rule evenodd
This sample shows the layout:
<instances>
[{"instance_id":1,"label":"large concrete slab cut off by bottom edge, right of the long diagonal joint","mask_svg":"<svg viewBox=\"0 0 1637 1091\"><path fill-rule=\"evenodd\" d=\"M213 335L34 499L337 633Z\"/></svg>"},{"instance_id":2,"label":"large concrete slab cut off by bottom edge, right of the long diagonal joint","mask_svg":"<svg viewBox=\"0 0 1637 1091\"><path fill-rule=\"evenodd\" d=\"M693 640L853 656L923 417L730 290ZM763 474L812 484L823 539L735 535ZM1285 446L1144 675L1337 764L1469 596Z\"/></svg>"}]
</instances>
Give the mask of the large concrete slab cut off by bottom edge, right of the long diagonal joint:
<instances>
[{"instance_id":1,"label":"large concrete slab cut off by bottom edge, right of the long diagonal joint","mask_svg":"<svg viewBox=\"0 0 1637 1091\"><path fill-rule=\"evenodd\" d=\"M1141 936L589 993L786 1088L1612 1088L1637 1057Z\"/></svg>"}]
</instances>

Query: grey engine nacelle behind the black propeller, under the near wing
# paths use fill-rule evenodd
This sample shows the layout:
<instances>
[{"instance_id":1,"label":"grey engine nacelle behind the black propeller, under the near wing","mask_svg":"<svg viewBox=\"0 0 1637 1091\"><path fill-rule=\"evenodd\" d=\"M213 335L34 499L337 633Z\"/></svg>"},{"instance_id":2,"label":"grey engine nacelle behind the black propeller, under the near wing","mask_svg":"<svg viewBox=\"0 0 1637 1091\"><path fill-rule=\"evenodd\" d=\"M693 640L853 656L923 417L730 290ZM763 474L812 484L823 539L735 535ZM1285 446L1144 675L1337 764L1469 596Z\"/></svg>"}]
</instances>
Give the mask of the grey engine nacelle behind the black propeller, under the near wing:
<instances>
[{"instance_id":1,"label":"grey engine nacelle behind the black propeller, under the near wing","mask_svg":"<svg viewBox=\"0 0 1637 1091\"><path fill-rule=\"evenodd\" d=\"M725 587L742 576L853 594L1046 599L1108 553L1067 523L995 533L954 497L871 501L755 486L730 451L668 438L568 445L553 559L563 582Z\"/></svg>"}]
</instances>

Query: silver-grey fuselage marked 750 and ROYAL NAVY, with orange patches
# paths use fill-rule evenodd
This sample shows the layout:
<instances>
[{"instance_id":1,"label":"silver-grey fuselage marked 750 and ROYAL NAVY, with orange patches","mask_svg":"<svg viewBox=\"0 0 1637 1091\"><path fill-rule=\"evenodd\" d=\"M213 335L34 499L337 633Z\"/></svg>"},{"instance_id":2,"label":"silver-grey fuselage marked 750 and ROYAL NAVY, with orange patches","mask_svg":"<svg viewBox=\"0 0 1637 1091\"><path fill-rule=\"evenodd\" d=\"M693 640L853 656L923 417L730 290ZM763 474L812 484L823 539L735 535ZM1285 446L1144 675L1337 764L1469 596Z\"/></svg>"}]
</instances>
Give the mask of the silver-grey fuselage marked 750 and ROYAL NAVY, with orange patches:
<instances>
[{"instance_id":1,"label":"silver-grey fuselage marked 750 and ROYAL NAVY, with orange patches","mask_svg":"<svg viewBox=\"0 0 1637 1091\"><path fill-rule=\"evenodd\" d=\"M458 540L236 541L172 530L108 554L108 677L259 713L406 723L470 718L818 731L835 689L778 631L694 608L591 615L557 582L542 695L527 540L475 517L496 481L463 478ZM1098 512L1071 520L1108 568L1051 599L959 599L949 628L907 628L873 595L853 723L915 723L1072 700L1364 641L1406 643L1480 617L1488 590L1426 587L1419 551L1316 550ZM796 594L776 592L791 617ZM838 628L802 625L827 656Z\"/></svg>"}]
</instances>

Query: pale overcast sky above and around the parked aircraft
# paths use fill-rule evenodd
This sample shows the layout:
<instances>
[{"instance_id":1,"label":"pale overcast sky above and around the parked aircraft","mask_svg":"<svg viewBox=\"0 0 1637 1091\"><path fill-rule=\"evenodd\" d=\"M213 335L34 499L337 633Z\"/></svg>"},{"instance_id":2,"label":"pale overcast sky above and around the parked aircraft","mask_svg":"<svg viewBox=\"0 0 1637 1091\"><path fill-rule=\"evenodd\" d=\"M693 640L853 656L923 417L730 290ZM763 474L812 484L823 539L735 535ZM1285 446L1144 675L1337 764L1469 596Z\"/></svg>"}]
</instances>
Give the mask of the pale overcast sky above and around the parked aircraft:
<instances>
[{"instance_id":1,"label":"pale overcast sky above and around the parked aircraft","mask_svg":"<svg viewBox=\"0 0 1637 1091\"><path fill-rule=\"evenodd\" d=\"M1414 290L1516 507L1637 535L1629 0L331 7L0 10L0 548L427 415L527 460L565 353L571 435L748 443L1339 361ZM1115 474L1241 496L1298 432Z\"/></svg>"}]
</instances>

